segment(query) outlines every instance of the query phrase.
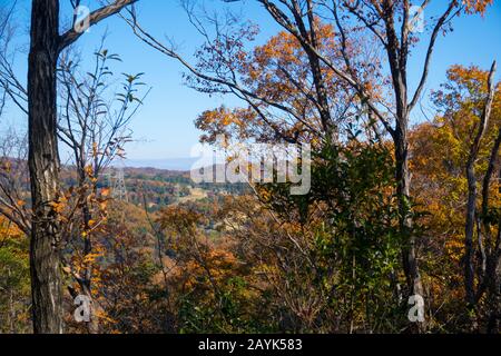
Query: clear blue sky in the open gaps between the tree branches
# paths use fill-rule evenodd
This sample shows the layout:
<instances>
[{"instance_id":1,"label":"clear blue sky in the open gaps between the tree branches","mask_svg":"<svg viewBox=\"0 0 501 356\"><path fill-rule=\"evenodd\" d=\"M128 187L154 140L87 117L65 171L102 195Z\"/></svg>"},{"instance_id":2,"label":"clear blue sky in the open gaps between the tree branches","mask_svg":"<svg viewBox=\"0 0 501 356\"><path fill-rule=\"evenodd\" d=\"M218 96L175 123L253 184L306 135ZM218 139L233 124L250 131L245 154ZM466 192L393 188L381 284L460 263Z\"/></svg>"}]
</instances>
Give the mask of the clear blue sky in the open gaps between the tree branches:
<instances>
[{"instance_id":1,"label":"clear blue sky in the open gaps between the tree branches","mask_svg":"<svg viewBox=\"0 0 501 356\"><path fill-rule=\"evenodd\" d=\"M0 0L10 3L13 0ZM440 3L444 0L434 0ZM28 31L29 0L18 0L19 19L24 19L20 28L21 34ZM61 0L62 18L68 18L65 3ZM95 9L98 1L82 1ZM206 0L208 9L220 8L220 0ZM454 22L454 32L445 38L440 37L430 72L428 88L436 88L444 81L446 69L454 63L478 65L488 69L492 60L501 62L501 3L494 1L484 18L479 16L462 16ZM253 0L243 3L226 4L242 16L259 24L262 33L258 42L274 34L278 28L269 16ZM145 28L163 38L173 38L180 52L190 58L200 43L200 36L187 21L187 17L178 0L140 0L139 18ZM425 13L426 18L433 8ZM85 34L79 42L84 55L96 49L102 32L108 31L107 48L120 55L122 63L115 67L116 72L146 72L144 80L153 87L150 96L132 122L134 137L138 142L127 147L127 155L134 160L156 160L189 157L190 148L197 144L199 134L194 127L194 120L204 110L212 109L225 102L235 103L229 98L209 98L184 86L183 67L167 57L157 53L137 40L118 18L108 19ZM423 43L424 44L424 43ZM415 83L420 73L419 65L424 56L423 44L418 47L410 62L411 83ZM18 70L26 76L24 59L18 65ZM500 63L501 67L501 63ZM501 69L500 69L501 71ZM501 76L498 76L501 78ZM420 112L418 112L420 113ZM419 118L416 118L419 119ZM21 122L21 126L23 123Z\"/></svg>"}]
</instances>

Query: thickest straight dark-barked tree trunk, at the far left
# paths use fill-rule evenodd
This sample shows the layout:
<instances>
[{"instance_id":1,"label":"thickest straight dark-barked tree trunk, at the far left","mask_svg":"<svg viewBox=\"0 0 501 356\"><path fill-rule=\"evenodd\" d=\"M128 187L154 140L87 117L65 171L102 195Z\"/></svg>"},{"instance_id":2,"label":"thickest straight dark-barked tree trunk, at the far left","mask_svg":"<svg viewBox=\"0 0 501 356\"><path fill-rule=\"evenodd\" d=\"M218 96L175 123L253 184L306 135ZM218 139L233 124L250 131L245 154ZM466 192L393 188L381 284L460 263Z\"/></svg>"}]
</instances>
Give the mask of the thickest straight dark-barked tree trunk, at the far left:
<instances>
[{"instance_id":1,"label":"thickest straight dark-barked tree trunk, at the far left","mask_svg":"<svg viewBox=\"0 0 501 356\"><path fill-rule=\"evenodd\" d=\"M29 170L33 220L30 248L33 330L61 334L62 284L59 266L59 198L56 69L59 1L33 0L28 68Z\"/></svg>"}]
</instances>

